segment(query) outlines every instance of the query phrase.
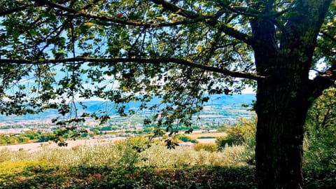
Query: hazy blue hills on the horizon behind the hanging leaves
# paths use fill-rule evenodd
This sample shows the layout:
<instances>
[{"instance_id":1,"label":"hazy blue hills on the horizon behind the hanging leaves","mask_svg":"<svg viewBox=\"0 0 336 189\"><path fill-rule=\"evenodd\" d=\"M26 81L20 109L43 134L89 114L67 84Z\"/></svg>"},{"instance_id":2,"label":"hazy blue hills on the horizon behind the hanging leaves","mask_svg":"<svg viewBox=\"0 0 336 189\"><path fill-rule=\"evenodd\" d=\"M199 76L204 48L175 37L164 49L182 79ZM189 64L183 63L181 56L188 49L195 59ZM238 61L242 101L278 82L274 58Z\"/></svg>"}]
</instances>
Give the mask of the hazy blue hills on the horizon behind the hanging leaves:
<instances>
[{"instance_id":1,"label":"hazy blue hills on the horizon behind the hanging leaves","mask_svg":"<svg viewBox=\"0 0 336 189\"><path fill-rule=\"evenodd\" d=\"M209 102L205 103L204 106L218 106L218 109L223 106L230 106L230 109L241 109L241 104L251 104L255 100L255 94L233 94L233 95L211 95ZM158 103L160 99L155 98L151 104ZM94 113L99 110L108 111L111 116L117 115L116 109L113 109L114 104L112 102L102 102L102 101L85 101L83 102L87 109L85 112ZM137 108L141 105L141 102L130 102L127 104L127 109ZM78 104L78 107L79 104ZM83 109L80 109L79 112L83 112ZM202 113L201 113L202 114ZM243 114L242 114L243 115ZM59 114L57 110L50 109L43 113L37 115L25 115L25 116L2 116L0 115L0 123L18 123L25 120L51 120L52 118L57 118ZM237 116L237 112L233 115Z\"/></svg>"}]
</instances>

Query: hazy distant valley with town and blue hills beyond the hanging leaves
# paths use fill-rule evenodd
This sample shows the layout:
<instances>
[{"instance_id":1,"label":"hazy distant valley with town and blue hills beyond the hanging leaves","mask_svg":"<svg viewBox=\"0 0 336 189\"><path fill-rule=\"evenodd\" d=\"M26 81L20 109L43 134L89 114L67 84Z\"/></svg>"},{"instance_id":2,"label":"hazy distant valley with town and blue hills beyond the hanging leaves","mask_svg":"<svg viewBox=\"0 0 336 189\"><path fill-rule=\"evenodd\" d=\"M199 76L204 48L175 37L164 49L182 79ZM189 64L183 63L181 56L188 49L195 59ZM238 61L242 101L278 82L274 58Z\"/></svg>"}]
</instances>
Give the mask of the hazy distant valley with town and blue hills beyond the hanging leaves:
<instances>
[{"instance_id":1,"label":"hazy distant valley with town and blue hills beyond the hanging leaves","mask_svg":"<svg viewBox=\"0 0 336 189\"><path fill-rule=\"evenodd\" d=\"M254 98L253 94L236 95L234 97L223 96L223 98L226 99L218 100L220 98L216 98L216 102L205 104L201 113L193 118L193 130L214 130L223 127L223 125L235 125L237 118L252 118L254 116L254 111L250 110L251 106L247 108L242 106L242 104L251 104ZM93 107L97 106L98 102L89 103ZM114 113L110 116L111 119L102 125L98 120L86 118L85 122L79 123L77 127L87 130L87 133L80 136L83 138L129 137L153 130L155 125L144 125L144 119L151 114L153 112L142 111L130 117L121 117ZM57 112L55 111L45 112L42 115L0 116L0 144L15 144L31 139L48 141L52 138L52 134L60 129L59 125L52 123L52 118L56 117ZM181 125L179 130L188 130L188 128ZM64 135L64 138L70 137L70 135L71 133ZM10 141L8 137L13 138Z\"/></svg>"}]
</instances>

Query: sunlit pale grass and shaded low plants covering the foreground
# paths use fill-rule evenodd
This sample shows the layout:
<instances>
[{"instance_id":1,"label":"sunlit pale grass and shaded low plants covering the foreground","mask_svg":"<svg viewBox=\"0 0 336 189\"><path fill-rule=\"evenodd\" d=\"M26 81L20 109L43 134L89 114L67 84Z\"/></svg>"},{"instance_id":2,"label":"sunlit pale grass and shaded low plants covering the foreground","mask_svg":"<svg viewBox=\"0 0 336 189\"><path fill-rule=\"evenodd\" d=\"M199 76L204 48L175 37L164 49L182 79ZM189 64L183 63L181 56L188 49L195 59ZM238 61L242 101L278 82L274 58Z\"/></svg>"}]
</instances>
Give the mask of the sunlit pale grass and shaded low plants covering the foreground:
<instances>
[{"instance_id":1,"label":"sunlit pale grass and shaded low plants covering the foreground","mask_svg":"<svg viewBox=\"0 0 336 189\"><path fill-rule=\"evenodd\" d=\"M146 148L145 137L132 137L97 146L44 146L36 152L5 148L0 188L256 188L246 144L225 144L221 151L209 151L215 144L204 146L169 150L155 141ZM332 171L305 169L304 176L307 188L336 186Z\"/></svg>"}]
</instances>

